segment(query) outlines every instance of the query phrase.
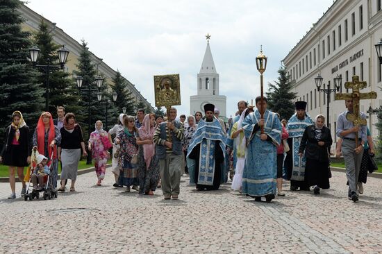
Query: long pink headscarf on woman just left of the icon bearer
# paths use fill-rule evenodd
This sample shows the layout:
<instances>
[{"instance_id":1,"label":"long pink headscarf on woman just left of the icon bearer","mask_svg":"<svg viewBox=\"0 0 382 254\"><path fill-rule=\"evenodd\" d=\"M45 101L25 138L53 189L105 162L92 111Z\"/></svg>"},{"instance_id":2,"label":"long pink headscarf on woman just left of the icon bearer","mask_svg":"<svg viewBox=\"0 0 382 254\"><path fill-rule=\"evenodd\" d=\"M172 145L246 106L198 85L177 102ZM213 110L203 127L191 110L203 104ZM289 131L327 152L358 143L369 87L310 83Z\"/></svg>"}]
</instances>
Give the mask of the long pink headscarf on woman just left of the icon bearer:
<instances>
[{"instance_id":1,"label":"long pink headscarf on woman just left of the icon bearer","mask_svg":"<svg viewBox=\"0 0 382 254\"><path fill-rule=\"evenodd\" d=\"M142 126L138 129L140 139L147 140L152 139L155 134L156 128L150 126L150 114L144 116ZM146 167L149 169L151 158L155 155L155 144L143 144L143 157L146 162Z\"/></svg>"}]
</instances>

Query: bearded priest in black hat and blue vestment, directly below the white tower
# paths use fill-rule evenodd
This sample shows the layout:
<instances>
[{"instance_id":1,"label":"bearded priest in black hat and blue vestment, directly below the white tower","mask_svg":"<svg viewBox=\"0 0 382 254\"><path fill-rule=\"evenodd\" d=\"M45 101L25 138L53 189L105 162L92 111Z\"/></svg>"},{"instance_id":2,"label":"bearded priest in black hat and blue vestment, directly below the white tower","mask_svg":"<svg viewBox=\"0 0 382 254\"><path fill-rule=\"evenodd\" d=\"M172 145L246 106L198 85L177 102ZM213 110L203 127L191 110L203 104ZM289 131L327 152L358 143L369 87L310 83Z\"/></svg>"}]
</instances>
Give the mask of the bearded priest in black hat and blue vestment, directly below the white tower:
<instances>
[{"instance_id":1,"label":"bearded priest in black hat and blue vestment, directly below the white tower","mask_svg":"<svg viewBox=\"0 0 382 254\"><path fill-rule=\"evenodd\" d=\"M201 119L188 147L188 158L195 161L195 181L199 191L219 189L223 180L226 135L217 118L213 104L204 105L205 119Z\"/></svg>"}]
</instances>

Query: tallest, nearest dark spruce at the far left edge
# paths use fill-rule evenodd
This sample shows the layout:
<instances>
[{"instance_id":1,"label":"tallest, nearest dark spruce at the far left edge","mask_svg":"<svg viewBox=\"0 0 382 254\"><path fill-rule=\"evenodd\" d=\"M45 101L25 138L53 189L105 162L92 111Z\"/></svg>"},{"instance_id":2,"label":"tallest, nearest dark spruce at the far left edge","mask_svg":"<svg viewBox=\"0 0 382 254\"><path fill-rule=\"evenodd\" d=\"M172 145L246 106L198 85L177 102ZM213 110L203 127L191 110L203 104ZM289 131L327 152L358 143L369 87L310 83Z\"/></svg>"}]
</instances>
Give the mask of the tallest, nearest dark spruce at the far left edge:
<instances>
[{"instance_id":1,"label":"tallest, nearest dark spruce at the far left edge","mask_svg":"<svg viewBox=\"0 0 382 254\"><path fill-rule=\"evenodd\" d=\"M22 112L26 124L35 128L44 108L44 91L38 71L28 61L30 33L22 31L19 0L0 0L0 143L13 111Z\"/></svg>"}]
</instances>

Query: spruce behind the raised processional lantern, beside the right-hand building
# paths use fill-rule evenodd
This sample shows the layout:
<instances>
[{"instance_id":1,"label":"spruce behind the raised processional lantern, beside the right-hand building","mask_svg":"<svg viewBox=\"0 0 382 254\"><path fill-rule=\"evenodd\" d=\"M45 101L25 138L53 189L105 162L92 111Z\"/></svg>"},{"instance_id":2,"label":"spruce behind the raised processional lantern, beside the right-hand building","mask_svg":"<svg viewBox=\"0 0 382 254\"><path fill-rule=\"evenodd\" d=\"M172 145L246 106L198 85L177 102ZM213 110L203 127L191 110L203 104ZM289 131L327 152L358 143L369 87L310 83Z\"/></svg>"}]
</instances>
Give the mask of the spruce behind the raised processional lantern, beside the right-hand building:
<instances>
[{"instance_id":1,"label":"spruce behind the raised processional lantern, beside the right-hand building","mask_svg":"<svg viewBox=\"0 0 382 254\"><path fill-rule=\"evenodd\" d=\"M278 81L276 84L269 83L267 94L267 108L273 112L278 112L281 119L289 119L294 113L293 100L296 98L295 92L291 92L292 83L287 75L285 67L281 66Z\"/></svg>"}]
</instances>

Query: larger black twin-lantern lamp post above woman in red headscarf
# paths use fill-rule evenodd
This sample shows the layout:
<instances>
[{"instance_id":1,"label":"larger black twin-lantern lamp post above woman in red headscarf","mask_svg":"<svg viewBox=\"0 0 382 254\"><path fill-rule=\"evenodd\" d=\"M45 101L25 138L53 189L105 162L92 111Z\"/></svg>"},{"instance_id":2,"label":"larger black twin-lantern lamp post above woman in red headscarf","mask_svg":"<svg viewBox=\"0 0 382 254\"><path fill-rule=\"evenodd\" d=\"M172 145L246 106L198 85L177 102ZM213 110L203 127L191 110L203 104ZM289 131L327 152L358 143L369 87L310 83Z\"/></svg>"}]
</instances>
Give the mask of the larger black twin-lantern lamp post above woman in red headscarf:
<instances>
[{"instance_id":1,"label":"larger black twin-lantern lamp post above woman in red headscarf","mask_svg":"<svg viewBox=\"0 0 382 254\"><path fill-rule=\"evenodd\" d=\"M65 62L67 61L67 56L69 56L69 50L63 46L61 49L58 49L57 55L58 55L58 62L60 62L60 65L37 65L36 62L38 60L38 57L40 56L40 49L38 49L37 46L32 46L31 49L29 49L29 53L31 54L31 61L33 63L34 67L37 67L38 69L41 69L44 71L45 75L45 111L49 111L49 74L51 71L55 71L58 69L64 69Z\"/></svg>"}]
</instances>

